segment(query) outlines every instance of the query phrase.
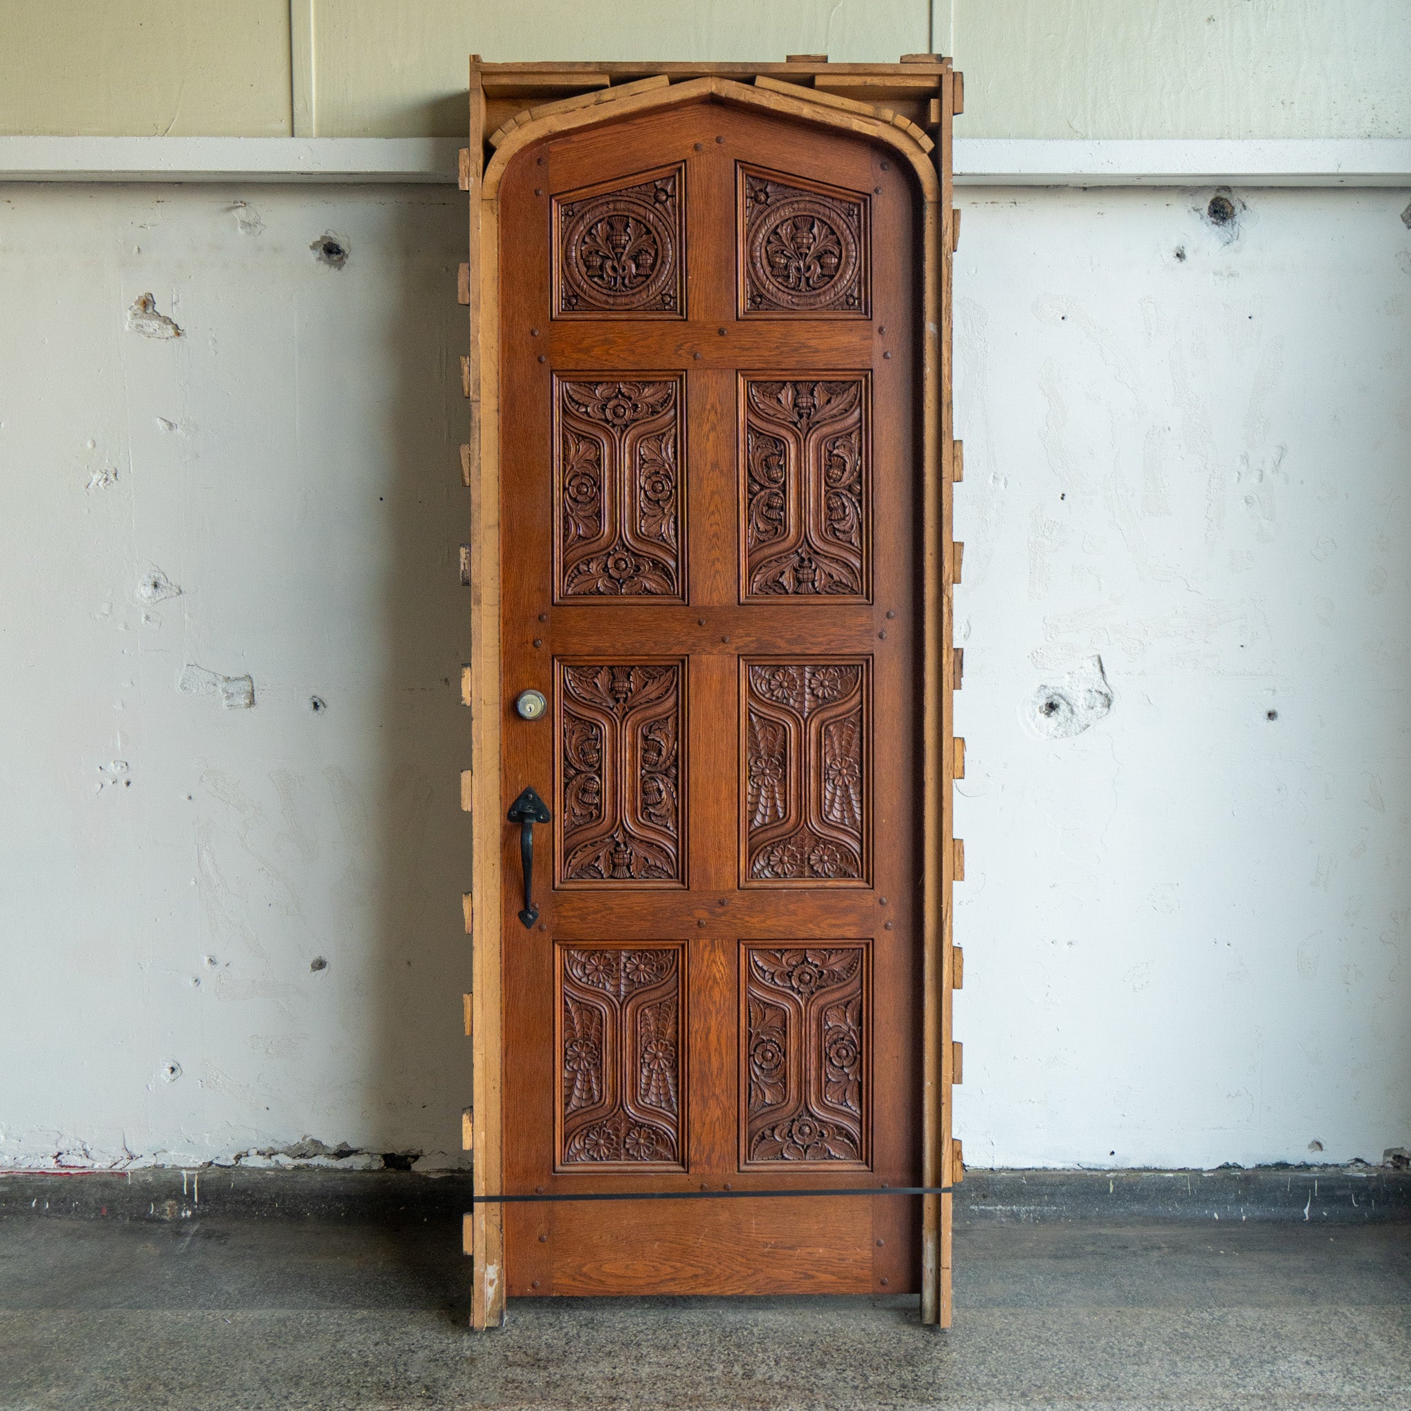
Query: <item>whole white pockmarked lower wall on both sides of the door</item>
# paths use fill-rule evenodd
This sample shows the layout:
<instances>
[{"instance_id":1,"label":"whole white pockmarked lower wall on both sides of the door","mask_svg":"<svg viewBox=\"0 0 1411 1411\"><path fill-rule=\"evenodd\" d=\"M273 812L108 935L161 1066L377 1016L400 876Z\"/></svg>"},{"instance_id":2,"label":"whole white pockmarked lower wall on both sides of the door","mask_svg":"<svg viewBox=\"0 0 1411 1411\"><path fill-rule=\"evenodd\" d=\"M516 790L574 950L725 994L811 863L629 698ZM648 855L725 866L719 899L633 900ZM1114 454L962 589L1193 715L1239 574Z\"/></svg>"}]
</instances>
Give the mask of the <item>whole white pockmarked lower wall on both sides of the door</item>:
<instances>
[{"instance_id":1,"label":"whole white pockmarked lower wall on both sides of the door","mask_svg":"<svg viewBox=\"0 0 1411 1411\"><path fill-rule=\"evenodd\" d=\"M1243 195L961 193L972 1164L1411 1137L1405 193ZM0 190L0 1164L459 1161L463 209Z\"/></svg>"}]
</instances>

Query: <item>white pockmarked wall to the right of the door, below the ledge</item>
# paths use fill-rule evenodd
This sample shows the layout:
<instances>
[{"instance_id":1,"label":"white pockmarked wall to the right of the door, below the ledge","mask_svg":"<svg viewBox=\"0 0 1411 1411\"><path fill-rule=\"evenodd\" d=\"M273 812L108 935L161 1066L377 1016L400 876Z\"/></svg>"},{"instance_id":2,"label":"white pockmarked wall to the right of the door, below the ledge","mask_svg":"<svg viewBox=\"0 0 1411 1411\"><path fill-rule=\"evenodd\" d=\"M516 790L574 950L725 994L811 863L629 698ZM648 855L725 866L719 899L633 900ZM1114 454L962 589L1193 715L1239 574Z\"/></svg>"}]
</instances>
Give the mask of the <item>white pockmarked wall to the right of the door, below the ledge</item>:
<instances>
[{"instance_id":1,"label":"white pockmarked wall to the right of the door, below the ledge","mask_svg":"<svg viewBox=\"0 0 1411 1411\"><path fill-rule=\"evenodd\" d=\"M1407 193L1209 195L961 193L972 1164L1411 1137Z\"/></svg>"}]
</instances>

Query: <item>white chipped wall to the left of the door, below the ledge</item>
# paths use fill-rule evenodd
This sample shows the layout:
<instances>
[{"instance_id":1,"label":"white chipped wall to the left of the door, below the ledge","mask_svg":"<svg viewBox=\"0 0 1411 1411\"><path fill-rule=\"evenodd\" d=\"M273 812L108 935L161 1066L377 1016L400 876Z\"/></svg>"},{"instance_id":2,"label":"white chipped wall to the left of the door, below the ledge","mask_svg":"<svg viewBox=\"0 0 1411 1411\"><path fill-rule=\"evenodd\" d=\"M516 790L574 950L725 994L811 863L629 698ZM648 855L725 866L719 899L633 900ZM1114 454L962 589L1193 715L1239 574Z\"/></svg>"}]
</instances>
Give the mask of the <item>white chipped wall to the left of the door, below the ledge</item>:
<instances>
[{"instance_id":1,"label":"white chipped wall to the left of the door, below the ledge","mask_svg":"<svg viewBox=\"0 0 1411 1411\"><path fill-rule=\"evenodd\" d=\"M459 1160L464 209L0 189L6 1164Z\"/></svg>"}]
</instances>

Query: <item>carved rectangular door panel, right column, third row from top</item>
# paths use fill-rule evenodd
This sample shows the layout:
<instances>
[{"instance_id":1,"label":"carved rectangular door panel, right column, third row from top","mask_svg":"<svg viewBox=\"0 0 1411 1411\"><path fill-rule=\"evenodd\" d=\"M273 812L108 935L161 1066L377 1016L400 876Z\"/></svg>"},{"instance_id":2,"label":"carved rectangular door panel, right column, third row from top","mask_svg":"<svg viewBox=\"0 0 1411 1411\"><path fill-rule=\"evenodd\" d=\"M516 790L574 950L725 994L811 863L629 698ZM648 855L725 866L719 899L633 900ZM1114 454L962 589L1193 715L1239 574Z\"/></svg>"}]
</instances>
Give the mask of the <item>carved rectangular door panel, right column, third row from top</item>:
<instances>
[{"instance_id":1,"label":"carved rectangular door panel, right column, third row from top","mask_svg":"<svg viewBox=\"0 0 1411 1411\"><path fill-rule=\"evenodd\" d=\"M742 660L742 886L871 880L871 660Z\"/></svg>"}]
</instances>

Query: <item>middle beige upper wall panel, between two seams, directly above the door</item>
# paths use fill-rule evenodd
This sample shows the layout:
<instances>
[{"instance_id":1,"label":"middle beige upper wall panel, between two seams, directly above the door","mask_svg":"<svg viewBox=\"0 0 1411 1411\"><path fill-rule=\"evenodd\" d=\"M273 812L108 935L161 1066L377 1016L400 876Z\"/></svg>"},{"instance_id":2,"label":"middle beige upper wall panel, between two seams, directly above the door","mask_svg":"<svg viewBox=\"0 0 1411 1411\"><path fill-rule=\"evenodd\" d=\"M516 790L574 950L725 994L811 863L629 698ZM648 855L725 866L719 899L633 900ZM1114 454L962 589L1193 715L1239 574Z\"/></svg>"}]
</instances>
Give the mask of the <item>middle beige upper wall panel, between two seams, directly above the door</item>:
<instances>
[{"instance_id":1,"label":"middle beige upper wall panel, between two seams, directly above the door","mask_svg":"<svg viewBox=\"0 0 1411 1411\"><path fill-rule=\"evenodd\" d=\"M927 48L927 0L316 0L320 137L457 137L466 59L713 59Z\"/></svg>"}]
</instances>

